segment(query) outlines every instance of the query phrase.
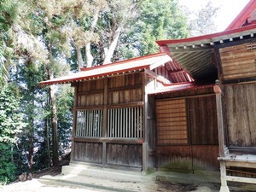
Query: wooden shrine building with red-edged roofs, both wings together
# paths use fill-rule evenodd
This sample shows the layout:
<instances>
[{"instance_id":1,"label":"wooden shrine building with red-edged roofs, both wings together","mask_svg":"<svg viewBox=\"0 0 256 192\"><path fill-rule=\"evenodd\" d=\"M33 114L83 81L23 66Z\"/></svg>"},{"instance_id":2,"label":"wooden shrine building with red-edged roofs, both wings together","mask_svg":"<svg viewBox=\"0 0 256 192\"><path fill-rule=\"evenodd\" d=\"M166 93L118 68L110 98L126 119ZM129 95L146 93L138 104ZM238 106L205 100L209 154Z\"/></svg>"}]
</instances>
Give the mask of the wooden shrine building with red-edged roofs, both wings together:
<instances>
[{"instance_id":1,"label":"wooden shrine building with red-edged roofs, both wings together","mask_svg":"<svg viewBox=\"0 0 256 192\"><path fill-rule=\"evenodd\" d=\"M256 183L256 1L227 30L41 82L74 87L73 163Z\"/></svg>"}]
</instances>

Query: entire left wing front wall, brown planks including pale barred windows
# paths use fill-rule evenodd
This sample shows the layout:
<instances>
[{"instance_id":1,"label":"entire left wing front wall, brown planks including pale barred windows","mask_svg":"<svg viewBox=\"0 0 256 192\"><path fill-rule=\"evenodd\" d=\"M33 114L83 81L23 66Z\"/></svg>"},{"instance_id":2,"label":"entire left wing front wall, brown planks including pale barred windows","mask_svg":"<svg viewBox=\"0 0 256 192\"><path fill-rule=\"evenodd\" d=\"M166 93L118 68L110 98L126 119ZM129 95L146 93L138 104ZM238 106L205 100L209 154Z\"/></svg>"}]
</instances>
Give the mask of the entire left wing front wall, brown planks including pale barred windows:
<instances>
[{"instance_id":1,"label":"entire left wing front wall, brown planks including pale barred windows","mask_svg":"<svg viewBox=\"0 0 256 192\"><path fill-rule=\"evenodd\" d=\"M72 160L142 167L143 73L74 85L77 102L73 108L76 119Z\"/></svg>"}]
</instances>

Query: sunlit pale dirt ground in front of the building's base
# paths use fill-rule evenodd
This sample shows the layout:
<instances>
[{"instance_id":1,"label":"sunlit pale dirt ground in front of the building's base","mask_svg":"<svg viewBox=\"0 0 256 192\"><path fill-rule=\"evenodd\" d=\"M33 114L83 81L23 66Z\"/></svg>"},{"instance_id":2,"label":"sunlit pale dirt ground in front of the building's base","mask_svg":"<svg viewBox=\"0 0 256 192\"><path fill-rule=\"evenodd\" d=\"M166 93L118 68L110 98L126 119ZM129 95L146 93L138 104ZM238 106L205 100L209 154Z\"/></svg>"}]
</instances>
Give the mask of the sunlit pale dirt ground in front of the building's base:
<instances>
[{"instance_id":1,"label":"sunlit pale dirt ground in front of the building's base","mask_svg":"<svg viewBox=\"0 0 256 192\"><path fill-rule=\"evenodd\" d=\"M68 161L66 162L68 163ZM64 165L66 164L64 163ZM77 186L71 185L68 183L48 183L42 182L39 177L44 175L56 176L61 174L61 166L56 168L49 168L39 172L35 172L32 175L32 180L26 182L10 183L9 185L2 186L0 185L0 192L109 192L109 191L120 191L120 192L218 192L219 183L200 183L200 184L181 184L181 183L172 183L170 181L151 181L148 183L140 182L113 182L105 180L102 181L99 178L99 182L107 182L109 186L114 187L114 189L102 189L102 188L92 188L91 186ZM85 178L86 179L86 178ZM88 178L89 179L89 178ZM111 184L110 184L111 182ZM255 186L255 185L254 185ZM255 188L254 188L255 189ZM255 190L252 189L241 189L240 186L231 186L230 192L252 192Z\"/></svg>"}]
</instances>

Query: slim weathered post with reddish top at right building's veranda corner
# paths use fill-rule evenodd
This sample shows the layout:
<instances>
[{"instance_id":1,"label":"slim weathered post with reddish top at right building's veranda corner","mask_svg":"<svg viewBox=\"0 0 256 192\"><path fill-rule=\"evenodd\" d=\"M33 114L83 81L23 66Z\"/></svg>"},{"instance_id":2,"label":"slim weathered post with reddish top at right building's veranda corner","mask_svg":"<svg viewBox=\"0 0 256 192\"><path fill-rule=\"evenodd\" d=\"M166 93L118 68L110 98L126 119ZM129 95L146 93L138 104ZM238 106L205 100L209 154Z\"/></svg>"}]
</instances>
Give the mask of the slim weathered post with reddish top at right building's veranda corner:
<instances>
[{"instance_id":1,"label":"slim weathered post with reddish top at right building's veranda corner","mask_svg":"<svg viewBox=\"0 0 256 192\"><path fill-rule=\"evenodd\" d=\"M222 90L219 87L218 81L213 87L216 94L216 108L217 108L217 119L218 119L218 145L219 145L219 156L224 157L228 153L225 146L224 140L224 113L223 113L223 103L222 103ZM220 161L220 192L230 192L230 189L226 180L226 164L225 161Z\"/></svg>"}]
</instances>

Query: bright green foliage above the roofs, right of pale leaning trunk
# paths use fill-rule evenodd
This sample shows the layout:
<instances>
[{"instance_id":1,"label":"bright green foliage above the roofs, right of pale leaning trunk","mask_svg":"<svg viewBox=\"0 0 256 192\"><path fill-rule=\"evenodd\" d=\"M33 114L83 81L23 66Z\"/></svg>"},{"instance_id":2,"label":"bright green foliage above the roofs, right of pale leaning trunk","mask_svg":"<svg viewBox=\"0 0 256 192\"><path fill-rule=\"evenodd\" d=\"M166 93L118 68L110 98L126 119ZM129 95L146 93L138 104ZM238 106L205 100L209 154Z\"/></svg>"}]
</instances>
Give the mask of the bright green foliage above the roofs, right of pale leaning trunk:
<instances>
[{"instance_id":1,"label":"bright green foliage above the roofs, right of pale leaning trunk","mask_svg":"<svg viewBox=\"0 0 256 192\"><path fill-rule=\"evenodd\" d=\"M176 0L144 0L138 4L136 20L130 20L116 52L131 58L158 52L156 40L186 38L186 16Z\"/></svg>"}]
</instances>

